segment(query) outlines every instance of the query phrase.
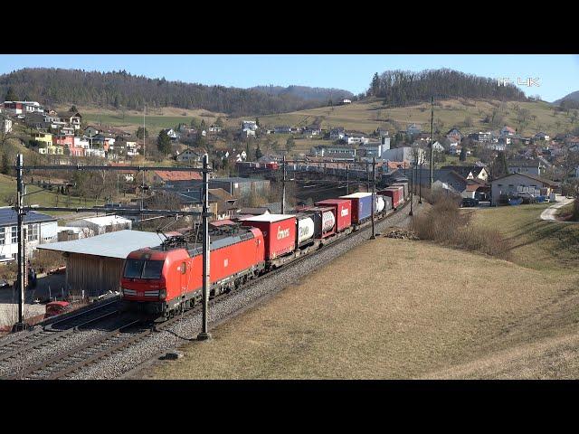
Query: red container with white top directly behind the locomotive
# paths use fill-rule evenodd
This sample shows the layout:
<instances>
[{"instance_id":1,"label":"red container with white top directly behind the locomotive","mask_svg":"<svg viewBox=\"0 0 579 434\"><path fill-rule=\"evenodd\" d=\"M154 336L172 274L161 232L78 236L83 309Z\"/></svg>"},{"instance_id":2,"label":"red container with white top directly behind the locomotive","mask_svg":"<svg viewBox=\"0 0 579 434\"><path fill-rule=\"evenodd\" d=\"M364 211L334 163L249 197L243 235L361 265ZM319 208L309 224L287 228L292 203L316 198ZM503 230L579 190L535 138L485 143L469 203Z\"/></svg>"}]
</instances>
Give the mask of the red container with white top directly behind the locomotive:
<instances>
[{"instance_id":1,"label":"red container with white top directly behind the locomotive","mask_svg":"<svg viewBox=\"0 0 579 434\"><path fill-rule=\"evenodd\" d=\"M288 214L261 214L241 220L243 226L263 233L265 259L276 259L296 248L296 217Z\"/></svg>"}]
</instances>

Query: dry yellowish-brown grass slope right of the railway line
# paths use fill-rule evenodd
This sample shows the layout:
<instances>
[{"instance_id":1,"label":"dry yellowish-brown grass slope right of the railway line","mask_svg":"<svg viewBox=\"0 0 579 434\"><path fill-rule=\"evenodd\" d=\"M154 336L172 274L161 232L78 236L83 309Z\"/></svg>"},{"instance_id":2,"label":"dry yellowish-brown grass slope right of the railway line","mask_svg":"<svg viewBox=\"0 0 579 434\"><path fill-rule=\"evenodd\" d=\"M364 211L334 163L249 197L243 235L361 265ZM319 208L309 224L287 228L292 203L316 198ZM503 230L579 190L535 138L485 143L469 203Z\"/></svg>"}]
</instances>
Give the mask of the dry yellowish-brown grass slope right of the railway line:
<instances>
[{"instance_id":1,"label":"dry yellowish-brown grass slope right of the railway line","mask_svg":"<svg viewBox=\"0 0 579 434\"><path fill-rule=\"evenodd\" d=\"M476 211L511 261L380 238L144 376L576 378L579 226L539 221L545 206Z\"/></svg>"}]
</instances>

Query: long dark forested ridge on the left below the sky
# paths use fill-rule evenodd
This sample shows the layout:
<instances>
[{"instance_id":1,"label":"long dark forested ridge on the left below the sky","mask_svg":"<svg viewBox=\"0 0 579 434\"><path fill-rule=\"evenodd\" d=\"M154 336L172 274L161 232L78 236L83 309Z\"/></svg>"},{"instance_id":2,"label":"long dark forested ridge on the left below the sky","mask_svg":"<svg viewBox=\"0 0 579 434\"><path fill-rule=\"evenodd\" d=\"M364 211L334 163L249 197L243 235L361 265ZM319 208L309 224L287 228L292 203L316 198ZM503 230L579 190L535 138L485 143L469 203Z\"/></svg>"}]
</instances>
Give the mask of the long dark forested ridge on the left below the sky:
<instances>
[{"instance_id":1,"label":"long dark forested ridge on the left below the sky","mask_svg":"<svg viewBox=\"0 0 579 434\"><path fill-rule=\"evenodd\" d=\"M14 99L53 104L100 105L126 109L173 106L206 109L233 117L311 109L327 103L281 93L205 86L202 84L148 79L126 71L87 72L34 68L0 76L0 98L11 90Z\"/></svg>"}]
</instances>

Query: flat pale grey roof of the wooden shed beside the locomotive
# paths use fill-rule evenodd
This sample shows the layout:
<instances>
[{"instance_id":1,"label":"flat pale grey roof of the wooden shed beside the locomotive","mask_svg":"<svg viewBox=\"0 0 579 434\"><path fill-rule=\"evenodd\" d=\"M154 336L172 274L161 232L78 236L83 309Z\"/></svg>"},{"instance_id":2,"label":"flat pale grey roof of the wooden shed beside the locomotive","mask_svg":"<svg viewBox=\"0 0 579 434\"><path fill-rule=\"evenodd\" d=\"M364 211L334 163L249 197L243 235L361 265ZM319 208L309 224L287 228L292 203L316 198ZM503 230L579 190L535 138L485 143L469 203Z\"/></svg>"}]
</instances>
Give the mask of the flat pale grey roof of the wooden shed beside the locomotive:
<instances>
[{"instance_id":1,"label":"flat pale grey roof of the wooden shed beside the locomotive","mask_svg":"<svg viewBox=\"0 0 579 434\"><path fill-rule=\"evenodd\" d=\"M157 247L162 239L154 232L116 231L82 240L41 244L37 249L125 259L133 250Z\"/></svg>"}]
</instances>

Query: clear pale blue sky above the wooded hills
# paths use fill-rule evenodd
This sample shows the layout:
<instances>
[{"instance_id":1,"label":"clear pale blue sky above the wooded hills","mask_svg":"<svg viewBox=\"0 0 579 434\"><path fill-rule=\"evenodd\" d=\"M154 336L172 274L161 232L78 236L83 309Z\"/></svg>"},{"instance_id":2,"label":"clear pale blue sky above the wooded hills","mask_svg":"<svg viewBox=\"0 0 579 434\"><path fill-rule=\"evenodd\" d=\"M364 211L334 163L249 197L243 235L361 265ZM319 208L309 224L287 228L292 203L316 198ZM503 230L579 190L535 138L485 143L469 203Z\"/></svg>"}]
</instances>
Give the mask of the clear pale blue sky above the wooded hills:
<instances>
[{"instance_id":1,"label":"clear pale blue sky above the wooded hills","mask_svg":"<svg viewBox=\"0 0 579 434\"><path fill-rule=\"evenodd\" d=\"M547 101L579 90L579 55L510 54L39 54L0 55L0 73L24 67L85 71L126 70L166 80L249 88L303 85L359 93L375 72L450 68L490 78L539 79L539 87L520 86Z\"/></svg>"}]
</instances>

